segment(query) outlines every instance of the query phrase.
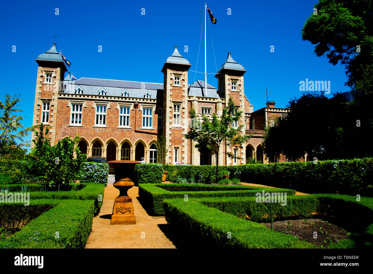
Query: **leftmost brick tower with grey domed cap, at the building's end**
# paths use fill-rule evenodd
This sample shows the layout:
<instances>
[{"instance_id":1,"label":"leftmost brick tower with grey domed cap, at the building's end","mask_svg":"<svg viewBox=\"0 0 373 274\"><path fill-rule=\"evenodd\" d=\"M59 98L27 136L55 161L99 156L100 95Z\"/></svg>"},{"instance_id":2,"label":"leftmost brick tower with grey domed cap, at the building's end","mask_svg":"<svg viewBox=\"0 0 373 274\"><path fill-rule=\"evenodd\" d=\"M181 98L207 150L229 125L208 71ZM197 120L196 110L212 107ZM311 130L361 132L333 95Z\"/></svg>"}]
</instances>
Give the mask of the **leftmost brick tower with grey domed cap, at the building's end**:
<instances>
[{"instance_id":1,"label":"leftmost brick tower with grey domed cap, at the building's end","mask_svg":"<svg viewBox=\"0 0 373 274\"><path fill-rule=\"evenodd\" d=\"M32 125L43 122L44 125L51 126L47 137L50 139L51 145L54 145L58 93L62 91L63 78L67 68L57 51L56 43L53 43L48 51L40 54L35 61L38 63L38 72ZM35 134L32 133L32 139L34 138Z\"/></svg>"}]
</instances>

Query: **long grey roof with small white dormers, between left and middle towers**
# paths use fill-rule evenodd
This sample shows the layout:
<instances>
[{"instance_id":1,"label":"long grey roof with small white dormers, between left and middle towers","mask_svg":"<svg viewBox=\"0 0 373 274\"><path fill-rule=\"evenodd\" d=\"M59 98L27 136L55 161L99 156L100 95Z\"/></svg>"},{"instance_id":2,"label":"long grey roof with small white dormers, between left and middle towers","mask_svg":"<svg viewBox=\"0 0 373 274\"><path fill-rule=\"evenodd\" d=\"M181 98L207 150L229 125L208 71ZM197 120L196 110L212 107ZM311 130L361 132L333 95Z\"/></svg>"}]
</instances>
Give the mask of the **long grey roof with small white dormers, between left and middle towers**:
<instances>
[{"instance_id":1,"label":"long grey roof with small white dormers, between left and middle towers","mask_svg":"<svg viewBox=\"0 0 373 274\"><path fill-rule=\"evenodd\" d=\"M122 93L126 89L129 93L129 97L144 98L144 95L148 91L151 94L150 99L157 98L157 90L163 90L163 84L159 83L146 83L146 82L135 82L135 81L122 81L122 80L110 80L110 79L97 79L97 78L79 78L76 81L69 83L65 82L66 88L64 93L75 94L75 89L81 86L83 94L98 95L98 92L104 88L106 96L123 96ZM142 86L143 85L143 86Z\"/></svg>"}]
</instances>

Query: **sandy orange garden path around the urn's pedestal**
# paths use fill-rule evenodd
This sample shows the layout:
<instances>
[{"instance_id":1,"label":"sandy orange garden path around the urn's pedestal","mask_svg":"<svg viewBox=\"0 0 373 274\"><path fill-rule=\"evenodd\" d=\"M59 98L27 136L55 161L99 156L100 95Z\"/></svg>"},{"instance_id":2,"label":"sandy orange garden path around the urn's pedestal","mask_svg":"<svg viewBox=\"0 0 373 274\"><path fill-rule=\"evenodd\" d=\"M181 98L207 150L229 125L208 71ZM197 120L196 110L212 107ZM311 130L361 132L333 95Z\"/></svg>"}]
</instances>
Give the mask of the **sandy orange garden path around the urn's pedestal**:
<instances>
[{"instance_id":1,"label":"sandy orange garden path around the urn's pedestal","mask_svg":"<svg viewBox=\"0 0 373 274\"><path fill-rule=\"evenodd\" d=\"M138 201L136 186L128 190L134 203L136 224L110 225L114 199L119 195L119 190L113 187L110 179L113 178L109 177L100 213L93 217L92 231L85 248L175 248L158 226L167 224L165 218L147 214Z\"/></svg>"}]
</instances>

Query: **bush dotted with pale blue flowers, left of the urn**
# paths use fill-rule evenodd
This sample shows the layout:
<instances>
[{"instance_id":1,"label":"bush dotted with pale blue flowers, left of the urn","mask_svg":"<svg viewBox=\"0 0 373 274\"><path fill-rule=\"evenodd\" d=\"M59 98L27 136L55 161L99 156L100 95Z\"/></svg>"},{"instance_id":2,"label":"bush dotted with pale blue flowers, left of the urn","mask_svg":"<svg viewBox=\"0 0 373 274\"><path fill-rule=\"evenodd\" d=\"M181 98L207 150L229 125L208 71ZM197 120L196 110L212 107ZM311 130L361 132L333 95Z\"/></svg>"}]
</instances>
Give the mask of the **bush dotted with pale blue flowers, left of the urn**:
<instances>
[{"instance_id":1,"label":"bush dotted with pale blue flowers, left of the urn","mask_svg":"<svg viewBox=\"0 0 373 274\"><path fill-rule=\"evenodd\" d=\"M81 183L98 183L107 186L109 176L109 164L85 162L80 171Z\"/></svg>"}]
</instances>

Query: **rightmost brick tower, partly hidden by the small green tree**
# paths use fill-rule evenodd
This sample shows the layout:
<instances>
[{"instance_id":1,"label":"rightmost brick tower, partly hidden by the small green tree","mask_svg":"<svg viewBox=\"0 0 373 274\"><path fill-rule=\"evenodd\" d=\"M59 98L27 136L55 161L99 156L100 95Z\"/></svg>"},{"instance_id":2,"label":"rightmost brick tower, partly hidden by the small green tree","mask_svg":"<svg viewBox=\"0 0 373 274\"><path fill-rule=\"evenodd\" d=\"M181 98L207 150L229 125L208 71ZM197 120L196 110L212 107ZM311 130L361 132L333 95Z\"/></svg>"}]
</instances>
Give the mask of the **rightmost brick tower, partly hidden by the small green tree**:
<instances>
[{"instance_id":1,"label":"rightmost brick tower, partly hidden by the small green tree","mask_svg":"<svg viewBox=\"0 0 373 274\"><path fill-rule=\"evenodd\" d=\"M238 111L244 111L245 113L245 94L244 94L244 73L245 68L233 60L231 53L228 52L228 57L225 63L217 71L216 78L218 79L220 96L225 98L225 104L228 104L229 97L233 98ZM238 126L244 124L245 114L241 116L239 122L232 126ZM241 134L245 134L245 127L242 128ZM227 151L231 152L237 156L241 156L241 160L234 160L226 158L226 165L231 164L245 164L246 153L245 148L243 149L233 149L226 147Z\"/></svg>"}]
</instances>

